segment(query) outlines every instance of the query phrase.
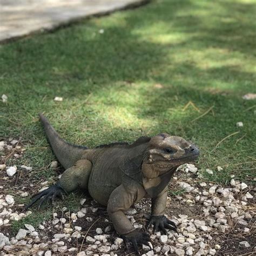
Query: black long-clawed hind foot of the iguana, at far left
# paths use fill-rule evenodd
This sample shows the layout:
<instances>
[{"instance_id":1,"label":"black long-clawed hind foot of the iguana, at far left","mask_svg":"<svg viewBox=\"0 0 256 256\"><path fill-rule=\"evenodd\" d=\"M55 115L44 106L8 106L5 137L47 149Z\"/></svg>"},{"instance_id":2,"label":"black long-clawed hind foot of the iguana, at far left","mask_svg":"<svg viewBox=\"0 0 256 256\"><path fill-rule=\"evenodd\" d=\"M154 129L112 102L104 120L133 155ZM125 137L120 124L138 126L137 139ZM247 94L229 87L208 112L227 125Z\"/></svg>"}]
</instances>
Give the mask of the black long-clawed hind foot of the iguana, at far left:
<instances>
[{"instance_id":1,"label":"black long-clawed hind foot of the iguana, at far left","mask_svg":"<svg viewBox=\"0 0 256 256\"><path fill-rule=\"evenodd\" d=\"M50 198L52 199L52 202L55 200L56 197L60 197L63 199L63 193L64 190L62 187L60 187L58 184L52 185L46 190L43 190L42 192L39 192L37 194L34 194L32 196L33 200L31 203L27 206L25 206L25 209L27 210L30 206L36 203L37 200L41 198L39 201L38 209L42 206L44 201L49 200Z\"/></svg>"}]
</instances>

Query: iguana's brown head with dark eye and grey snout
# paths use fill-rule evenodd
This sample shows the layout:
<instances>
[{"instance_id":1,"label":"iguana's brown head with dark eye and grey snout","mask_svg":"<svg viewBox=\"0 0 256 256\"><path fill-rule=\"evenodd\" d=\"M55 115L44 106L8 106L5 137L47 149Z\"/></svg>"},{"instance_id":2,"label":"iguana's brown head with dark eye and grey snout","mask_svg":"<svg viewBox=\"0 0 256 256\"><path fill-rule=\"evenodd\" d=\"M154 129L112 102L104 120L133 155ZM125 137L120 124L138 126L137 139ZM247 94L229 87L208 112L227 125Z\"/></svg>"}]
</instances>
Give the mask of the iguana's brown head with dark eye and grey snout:
<instances>
[{"instance_id":1,"label":"iguana's brown head with dark eye and grey snout","mask_svg":"<svg viewBox=\"0 0 256 256\"><path fill-rule=\"evenodd\" d=\"M188 163L199 156L199 149L187 140L160 133L151 138L147 158L142 164L143 175L152 179Z\"/></svg>"}]
</instances>

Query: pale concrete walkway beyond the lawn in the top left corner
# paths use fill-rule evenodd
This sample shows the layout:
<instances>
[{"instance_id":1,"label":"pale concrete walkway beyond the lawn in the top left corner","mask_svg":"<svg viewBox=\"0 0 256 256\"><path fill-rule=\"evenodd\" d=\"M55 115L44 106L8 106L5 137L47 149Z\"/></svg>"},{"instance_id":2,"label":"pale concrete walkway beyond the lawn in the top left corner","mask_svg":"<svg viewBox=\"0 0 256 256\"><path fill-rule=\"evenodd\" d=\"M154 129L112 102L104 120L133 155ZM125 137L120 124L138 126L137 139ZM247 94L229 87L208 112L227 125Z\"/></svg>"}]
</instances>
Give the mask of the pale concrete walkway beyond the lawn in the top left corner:
<instances>
[{"instance_id":1,"label":"pale concrete walkway beyond the lawn in the top left corner","mask_svg":"<svg viewBox=\"0 0 256 256\"><path fill-rule=\"evenodd\" d=\"M0 41L51 30L79 18L105 14L144 0L0 0Z\"/></svg>"}]
</instances>

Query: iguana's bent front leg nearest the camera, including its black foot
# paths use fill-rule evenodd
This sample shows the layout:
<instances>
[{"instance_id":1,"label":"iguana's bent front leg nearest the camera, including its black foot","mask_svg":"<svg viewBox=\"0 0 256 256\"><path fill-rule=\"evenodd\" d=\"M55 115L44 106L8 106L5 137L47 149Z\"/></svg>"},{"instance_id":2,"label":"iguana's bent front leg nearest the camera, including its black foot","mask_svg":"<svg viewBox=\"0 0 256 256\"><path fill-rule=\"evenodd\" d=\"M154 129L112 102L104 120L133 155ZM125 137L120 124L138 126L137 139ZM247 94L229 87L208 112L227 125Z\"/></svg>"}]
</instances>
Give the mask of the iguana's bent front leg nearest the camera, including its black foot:
<instances>
[{"instance_id":1,"label":"iguana's bent front leg nearest the camera, including its black foot","mask_svg":"<svg viewBox=\"0 0 256 256\"><path fill-rule=\"evenodd\" d=\"M122 235L126 242L132 242L136 252L139 251L138 244L148 245L150 241L149 234L139 232L133 227L130 220L124 214L131 205L140 197L143 197L145 191L143 187L129 186L125 188L124 185L118 186L110 195L107 203L107 213L113 222L116 231Z\"/></svg>"}]
</instances>

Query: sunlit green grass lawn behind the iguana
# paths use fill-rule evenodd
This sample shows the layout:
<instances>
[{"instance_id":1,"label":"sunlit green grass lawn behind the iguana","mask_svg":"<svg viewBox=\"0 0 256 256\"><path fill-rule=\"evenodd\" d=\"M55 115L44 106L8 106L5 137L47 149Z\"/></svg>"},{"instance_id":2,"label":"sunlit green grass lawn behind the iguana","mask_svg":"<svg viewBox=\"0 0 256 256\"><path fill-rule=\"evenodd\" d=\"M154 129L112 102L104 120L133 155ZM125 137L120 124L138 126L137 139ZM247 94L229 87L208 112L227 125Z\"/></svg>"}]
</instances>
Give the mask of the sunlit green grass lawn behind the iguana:
<instances>
[{"instance_id":1,"label":"sunlit green grass lawn behind the iguana","mask_svg":"<svg viewBox=\"0 0 256 256\"><path fill-rule=\"evenodd\" d=\"M159 0L1 45L0 137L21 137L22 161L40 170L55 157L38 112L89 147L168 132L200 147L197 166L214 170L206 179L250 182L256 103L241 96L256 92L255 11L253 0ZM200 112L184 110L189 101Z\"/></svg>"}]
</instances>

